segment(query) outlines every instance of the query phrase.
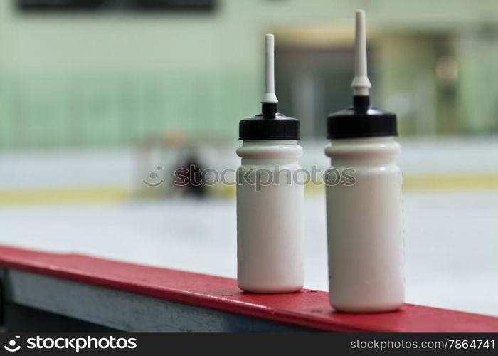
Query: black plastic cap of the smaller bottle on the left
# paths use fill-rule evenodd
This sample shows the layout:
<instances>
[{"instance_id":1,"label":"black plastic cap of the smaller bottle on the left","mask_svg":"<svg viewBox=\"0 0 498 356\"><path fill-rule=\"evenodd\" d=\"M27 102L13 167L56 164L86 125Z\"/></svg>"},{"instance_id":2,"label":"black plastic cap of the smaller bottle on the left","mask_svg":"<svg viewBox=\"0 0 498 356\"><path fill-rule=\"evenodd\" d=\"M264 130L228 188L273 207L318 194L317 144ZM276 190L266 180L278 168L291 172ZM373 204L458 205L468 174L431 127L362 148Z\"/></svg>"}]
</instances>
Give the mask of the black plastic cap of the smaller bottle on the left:
<instances>
[{"instance_id":1,"label":"black plastic cap of the smaller bottle on the left","mask_svg":"<svg viewBox=\"0 0 498 356\"><path fill-rule=\"evenodd\" d=\"M299 140L300 121L277 112L277 104L263 103L261 113L240 120L239 140Z\"/></svg>"}]
</instances>

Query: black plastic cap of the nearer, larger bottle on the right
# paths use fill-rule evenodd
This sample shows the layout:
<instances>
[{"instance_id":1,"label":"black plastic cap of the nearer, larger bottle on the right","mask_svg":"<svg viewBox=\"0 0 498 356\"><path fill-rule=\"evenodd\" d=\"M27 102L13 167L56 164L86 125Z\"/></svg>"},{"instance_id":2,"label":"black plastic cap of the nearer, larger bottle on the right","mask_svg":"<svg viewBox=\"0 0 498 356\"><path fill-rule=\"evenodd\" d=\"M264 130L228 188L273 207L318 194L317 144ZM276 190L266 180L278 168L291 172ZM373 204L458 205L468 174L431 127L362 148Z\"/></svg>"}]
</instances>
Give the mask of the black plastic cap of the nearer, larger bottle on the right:
<instances>
[{"instance_id":1,"label":"black plastic cap of the nearer, larger bottle on the right","mask_svg":"<svg viewBox=\"0 0 498 356\"><path fill-rule=\"evenodd\" d=\"M330 114L327 138L397 136L396 114L370 106L368 96L355 95L353 106Z\"/></svg>"}]
</instances>

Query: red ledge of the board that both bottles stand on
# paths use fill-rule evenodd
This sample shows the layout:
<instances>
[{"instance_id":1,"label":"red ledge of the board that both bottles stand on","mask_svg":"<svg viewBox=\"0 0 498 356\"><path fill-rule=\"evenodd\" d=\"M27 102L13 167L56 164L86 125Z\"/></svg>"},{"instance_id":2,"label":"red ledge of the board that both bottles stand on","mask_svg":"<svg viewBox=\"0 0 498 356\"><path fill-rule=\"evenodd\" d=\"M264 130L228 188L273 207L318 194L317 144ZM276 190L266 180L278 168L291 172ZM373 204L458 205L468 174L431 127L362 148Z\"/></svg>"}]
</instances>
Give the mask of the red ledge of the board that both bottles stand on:
<instances>
[{"instance_id":1,"label":"red ledge of the board that both bottles stand on","mask_svg":"<svg viewBox=\"0 0 498 356\"><path fill-rule=\"evenodd\" d=\"M241 292L235 280L92 258L0 246L0 266L324 331L498 331L498 318L406 304L393 313L334 312L328 293Z\"/></svg>"}]
</instances>

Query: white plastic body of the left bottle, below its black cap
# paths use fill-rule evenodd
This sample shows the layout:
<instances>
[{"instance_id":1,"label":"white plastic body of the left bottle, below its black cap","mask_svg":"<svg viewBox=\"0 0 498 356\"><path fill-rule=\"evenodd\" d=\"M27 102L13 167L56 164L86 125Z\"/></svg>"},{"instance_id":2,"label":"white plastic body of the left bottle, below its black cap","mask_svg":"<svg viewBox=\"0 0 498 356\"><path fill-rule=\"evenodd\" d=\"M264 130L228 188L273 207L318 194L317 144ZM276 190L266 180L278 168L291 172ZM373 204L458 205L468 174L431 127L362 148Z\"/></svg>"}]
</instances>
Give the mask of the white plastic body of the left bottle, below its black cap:
<instances>
[{"instance_id":1,"label":"white plastic body of the left bottle, below its black cap","mask_svg":"<svg viewBox=\"0 0 498 356\"><path fill-rule=\"evenodd\" d=\"M247 140L237 154L238 286L296 292L304 283L302 147L296 140Z\"/></svg>"}]
</instances>

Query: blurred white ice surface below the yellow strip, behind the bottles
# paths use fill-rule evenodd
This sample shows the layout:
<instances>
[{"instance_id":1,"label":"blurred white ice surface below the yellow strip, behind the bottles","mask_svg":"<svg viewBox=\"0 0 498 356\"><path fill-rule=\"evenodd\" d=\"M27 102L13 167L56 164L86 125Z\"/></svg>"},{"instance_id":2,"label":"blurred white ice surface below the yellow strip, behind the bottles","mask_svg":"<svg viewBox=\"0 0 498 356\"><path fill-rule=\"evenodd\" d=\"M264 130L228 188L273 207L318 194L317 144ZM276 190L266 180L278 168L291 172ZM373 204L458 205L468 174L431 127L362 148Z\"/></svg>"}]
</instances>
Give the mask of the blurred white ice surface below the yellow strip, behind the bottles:
<instances>
[{"instance_id":1,"label":"blurred white ice surface below the yellow strip, behind the bottles","mask_svg":"<svg viewBox=\"0 0 498 356\"><path fill-rule=\"evenodd\" d=\"M498 315L498 192L405 197L407 301ZM306 199L306 287L327 290L323 197ZM0 243L235 277L235 201L0 209Z\"/></svg>"}]
</instances>

